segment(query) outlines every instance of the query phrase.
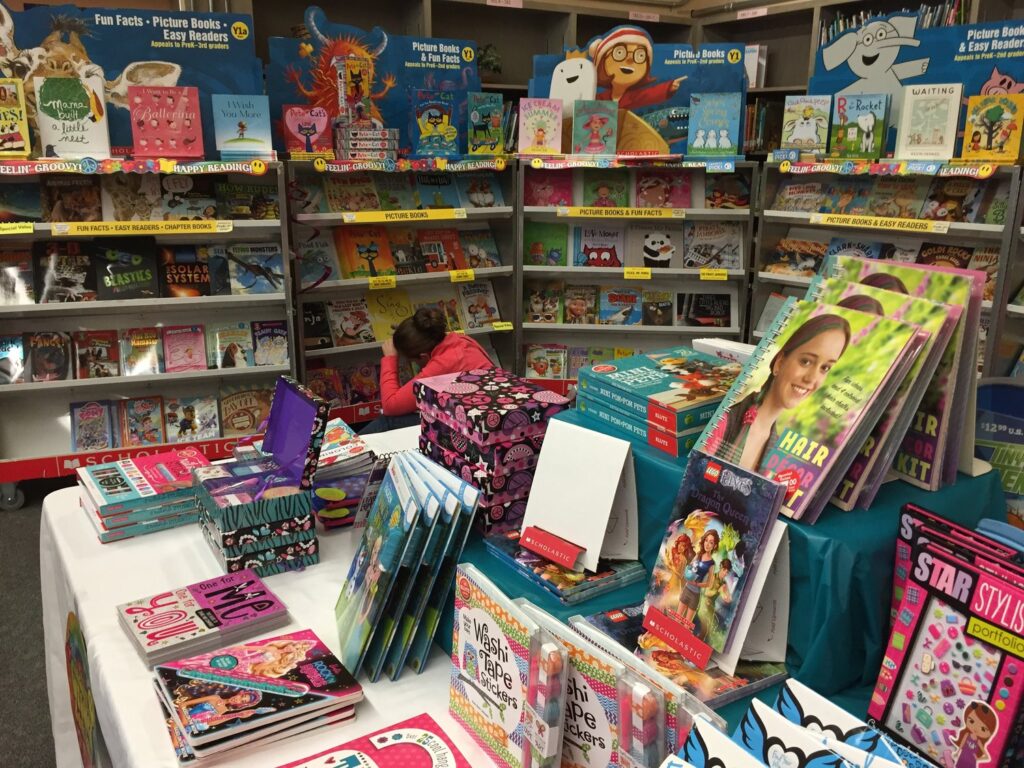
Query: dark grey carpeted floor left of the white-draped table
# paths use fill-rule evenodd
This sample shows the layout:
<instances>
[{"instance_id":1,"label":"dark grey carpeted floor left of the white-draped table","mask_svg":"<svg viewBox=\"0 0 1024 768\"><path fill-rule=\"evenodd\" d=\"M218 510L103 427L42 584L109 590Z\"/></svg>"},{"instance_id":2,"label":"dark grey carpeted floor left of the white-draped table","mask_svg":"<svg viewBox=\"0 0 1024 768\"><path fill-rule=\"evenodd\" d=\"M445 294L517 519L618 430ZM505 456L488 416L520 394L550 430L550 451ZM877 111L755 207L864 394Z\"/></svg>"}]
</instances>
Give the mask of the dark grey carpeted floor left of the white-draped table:
<instances>
[{"instance_id":1,"label":"dark grey carpeted floor left of the white-draped table","mask_svg":"<svg viewBox=\"0 0 1024 768\"><path fill-rule=\"evenodd\" d=\"M46 495L69 484L68 479L25 483L25 507L0 511L0 763L11 768L53 765L39 597L39 515Z\"/></svg>"}]
</instances>

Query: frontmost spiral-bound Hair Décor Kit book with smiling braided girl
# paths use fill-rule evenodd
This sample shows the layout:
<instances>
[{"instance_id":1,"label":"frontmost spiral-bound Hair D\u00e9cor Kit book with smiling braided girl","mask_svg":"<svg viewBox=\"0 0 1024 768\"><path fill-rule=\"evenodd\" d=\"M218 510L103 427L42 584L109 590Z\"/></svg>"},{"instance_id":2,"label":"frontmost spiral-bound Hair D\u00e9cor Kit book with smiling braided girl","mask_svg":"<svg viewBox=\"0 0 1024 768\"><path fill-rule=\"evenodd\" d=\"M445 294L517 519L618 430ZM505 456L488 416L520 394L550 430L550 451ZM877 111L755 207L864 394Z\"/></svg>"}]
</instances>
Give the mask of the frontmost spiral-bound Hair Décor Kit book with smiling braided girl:
<instances>
[{"instance_id":1,"label":"frontmost spiral-bound Hair D\u00e9cor Kit book with smiling braided girl","mask_svg":"<svg viewBox=\"0 0 1024 768\"><path fill-rule=\"evenodd\" d=\"M814 522L920 352L915 327L791 300L696 450L782 482L782 511Z\"/></svg>"}]
</instances>

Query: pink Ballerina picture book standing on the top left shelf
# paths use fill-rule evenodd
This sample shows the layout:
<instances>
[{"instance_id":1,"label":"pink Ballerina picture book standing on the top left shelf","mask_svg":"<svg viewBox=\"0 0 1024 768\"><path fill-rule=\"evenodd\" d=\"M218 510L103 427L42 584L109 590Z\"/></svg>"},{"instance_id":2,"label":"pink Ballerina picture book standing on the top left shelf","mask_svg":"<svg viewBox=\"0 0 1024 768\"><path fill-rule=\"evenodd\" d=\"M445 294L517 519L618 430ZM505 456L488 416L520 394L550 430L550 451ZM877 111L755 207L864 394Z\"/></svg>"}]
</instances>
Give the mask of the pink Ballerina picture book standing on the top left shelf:
<instances>
[{"instance_id":1,"label":"pink Ballerina picture book standing on the top left shelf","mask_svg":"<svg viewBox=\"0 0 1024 768\"><path fill-rule=\"evenodd\" d=\"M129 85L128 113L134 157L203 159L199 88Z\"/></svg>"}]
</instances>

